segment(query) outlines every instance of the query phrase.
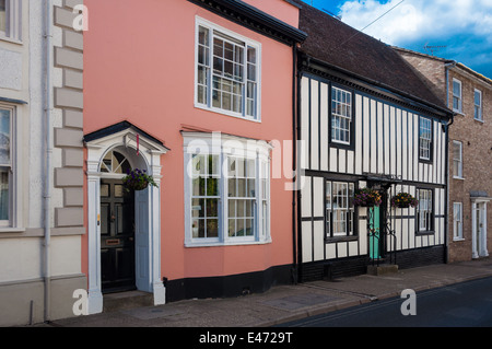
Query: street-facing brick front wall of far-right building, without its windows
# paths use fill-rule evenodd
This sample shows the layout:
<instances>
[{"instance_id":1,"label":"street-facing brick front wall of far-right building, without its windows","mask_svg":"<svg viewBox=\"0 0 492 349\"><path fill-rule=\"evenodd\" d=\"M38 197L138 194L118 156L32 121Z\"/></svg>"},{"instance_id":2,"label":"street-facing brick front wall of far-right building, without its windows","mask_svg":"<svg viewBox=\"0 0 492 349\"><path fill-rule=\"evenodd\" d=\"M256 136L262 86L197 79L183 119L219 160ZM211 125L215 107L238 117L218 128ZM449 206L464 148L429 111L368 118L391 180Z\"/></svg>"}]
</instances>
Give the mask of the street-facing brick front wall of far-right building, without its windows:
<instances>
[{"instance_id":1,"label":"street-facing brick front wall of far-right building, without its windows","mask_svg":"<svg viewBox=\"0 0 492 349\"><path fill-rule=\"evenodd\" d=\"M471 191L492 196L492 86L480 82L460 68L449 71L449 101L453 101L453 78L461 81L462 114L455 116L449 129L449 261L471 259ZM475 89L482 92L483 123L473 118ZM453 141L462 144L462 179L454 178ZM453 202L462 202L462 240L453 240ZM492 202L488 205L488 249L492 248Z\"/></svg>"}]
</instances>

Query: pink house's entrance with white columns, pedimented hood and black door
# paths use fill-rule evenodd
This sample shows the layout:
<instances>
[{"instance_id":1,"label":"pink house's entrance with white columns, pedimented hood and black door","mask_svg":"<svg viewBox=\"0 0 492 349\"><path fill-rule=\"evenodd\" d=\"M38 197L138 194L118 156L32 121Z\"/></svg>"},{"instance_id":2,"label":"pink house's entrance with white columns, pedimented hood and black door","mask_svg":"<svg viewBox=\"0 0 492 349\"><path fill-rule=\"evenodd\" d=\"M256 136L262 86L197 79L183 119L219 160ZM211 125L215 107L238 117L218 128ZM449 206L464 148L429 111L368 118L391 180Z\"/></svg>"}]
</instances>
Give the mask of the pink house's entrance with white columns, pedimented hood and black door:
<instances>
[{"instance_id":1,"label":"pink house's entrance with white columns, pedimented hood and black door","mask_svg":"<svg viewBox=\"0 0 492 349\"><path fill-rule=\"evenodd\" d=\"M103 312L103 290L106 293L138 289L153 293L155 305L165 304L160 184L161 155L169 149L128 121L84 135L84 143L89 314ZM121 179L128 168L145 170L157 186L125 197Z\"/></svg>"}]
</instances>

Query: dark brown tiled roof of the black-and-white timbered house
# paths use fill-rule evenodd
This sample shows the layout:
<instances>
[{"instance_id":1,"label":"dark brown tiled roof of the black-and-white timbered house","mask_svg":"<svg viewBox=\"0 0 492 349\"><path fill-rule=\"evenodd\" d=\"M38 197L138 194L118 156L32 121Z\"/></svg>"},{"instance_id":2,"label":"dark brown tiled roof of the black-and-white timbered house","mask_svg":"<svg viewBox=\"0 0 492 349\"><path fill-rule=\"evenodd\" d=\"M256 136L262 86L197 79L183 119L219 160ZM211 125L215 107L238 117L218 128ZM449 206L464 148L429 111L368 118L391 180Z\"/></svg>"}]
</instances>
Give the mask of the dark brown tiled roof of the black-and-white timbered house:
<instances>
[{"instance_id":1,"label":"dark brown tiled roof of the black-and-white timbered house","mask_svg":"<svg viewBox=\"0 0 492 349\"><path fill-rule=\"evenodd\" d=\"M379 86L402 92L447 110L413 68L391 46L375 39L301 0L300 30L307 39L300 50Z\"/></svg>"}]
</instances>

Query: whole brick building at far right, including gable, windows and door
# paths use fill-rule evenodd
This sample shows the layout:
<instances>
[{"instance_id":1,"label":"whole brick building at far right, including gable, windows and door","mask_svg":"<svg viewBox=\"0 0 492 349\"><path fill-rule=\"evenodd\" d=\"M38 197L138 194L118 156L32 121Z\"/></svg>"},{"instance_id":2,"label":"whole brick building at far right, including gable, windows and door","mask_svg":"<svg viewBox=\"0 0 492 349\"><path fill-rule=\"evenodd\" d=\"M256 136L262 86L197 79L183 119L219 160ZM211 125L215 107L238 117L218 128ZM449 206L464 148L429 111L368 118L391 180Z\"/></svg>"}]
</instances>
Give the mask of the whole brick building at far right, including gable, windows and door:
<instances>
[{"instance_id":1,"label":"whole brick building at far right, including gable, windows and door","mask_svg":"<svg viewBox=\"0 0 492 349\"><path fill-rule=\"evenodd\" d=\"M454 60L396 50L455 112L448 140L448 260L492 246L492 80Z\"/></svg>"}]
</instances>

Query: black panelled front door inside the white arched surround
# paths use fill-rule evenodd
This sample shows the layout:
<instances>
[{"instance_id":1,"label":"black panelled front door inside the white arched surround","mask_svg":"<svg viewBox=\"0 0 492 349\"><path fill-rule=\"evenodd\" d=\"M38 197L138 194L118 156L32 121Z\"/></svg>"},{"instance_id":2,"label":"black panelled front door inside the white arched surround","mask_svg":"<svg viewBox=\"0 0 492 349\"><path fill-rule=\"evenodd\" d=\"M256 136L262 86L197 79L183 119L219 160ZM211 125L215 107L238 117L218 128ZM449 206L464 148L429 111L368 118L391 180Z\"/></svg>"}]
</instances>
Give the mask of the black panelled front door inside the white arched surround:
<instances>
[{"instance_id":1,"label":"black panelled front door inside the white arched surround","mask_svg":"<svg viewBox=\"0 0 492 349\"><path fill-rule=\"evenodd\" d=\"M121 181L101 179L101 269L103 292L136 289L134 194Z\"/></svg>"}]
</instances>

